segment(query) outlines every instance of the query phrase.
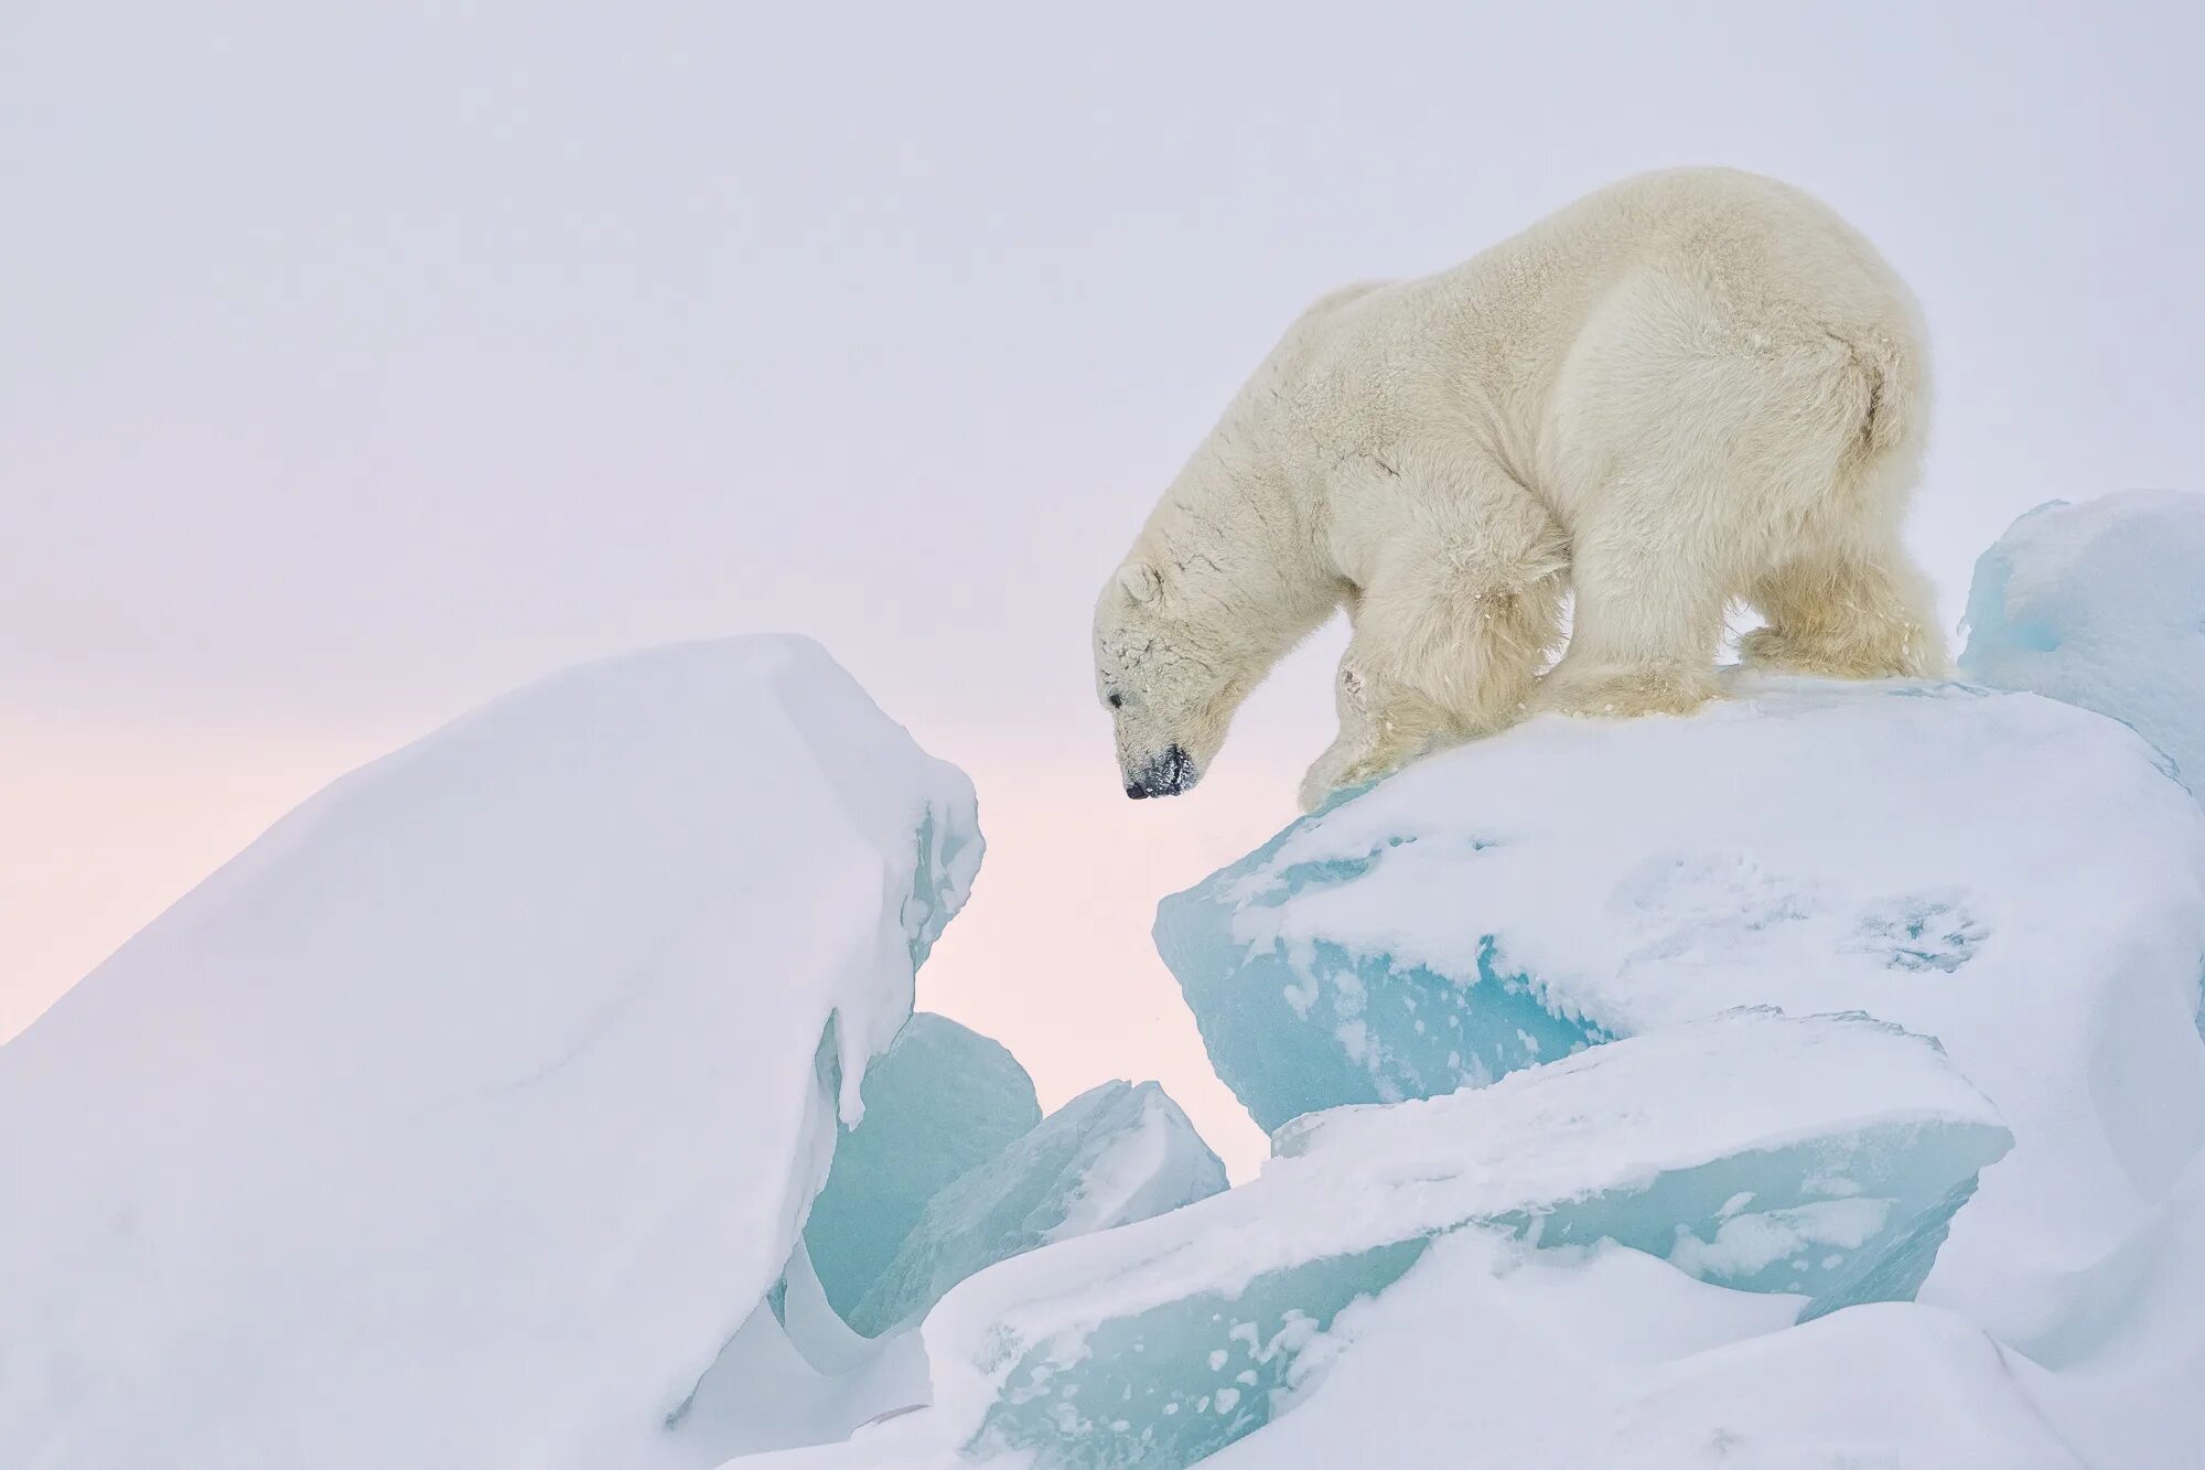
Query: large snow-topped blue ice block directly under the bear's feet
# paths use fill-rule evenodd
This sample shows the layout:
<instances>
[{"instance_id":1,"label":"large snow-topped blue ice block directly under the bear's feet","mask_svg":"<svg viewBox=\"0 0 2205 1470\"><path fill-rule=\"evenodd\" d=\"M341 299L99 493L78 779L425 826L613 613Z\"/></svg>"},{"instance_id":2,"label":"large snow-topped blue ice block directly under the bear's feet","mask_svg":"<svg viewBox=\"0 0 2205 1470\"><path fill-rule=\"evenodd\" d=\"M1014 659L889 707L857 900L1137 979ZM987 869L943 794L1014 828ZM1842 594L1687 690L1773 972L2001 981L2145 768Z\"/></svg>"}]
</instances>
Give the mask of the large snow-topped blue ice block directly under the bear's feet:
<instances>
[{"instance_id":1,"label":"large snow-topped blue ice block directly under the bear's feet","mask_svg":"<svg viewBox=\"0 0 2205 1470\"><path fill-rule=\"evenodd\" d=\"M2015 1148L1927 1296L2022 1327L2205 1143L2205 812L2132 731L2037 695L1731 695L1420 761L1166 898L1164 958L1268 1126L1733 1006L1938 1037ZM1460 1055L1431 1042L1451 1018Z\"/></svg>"}]
</instances>

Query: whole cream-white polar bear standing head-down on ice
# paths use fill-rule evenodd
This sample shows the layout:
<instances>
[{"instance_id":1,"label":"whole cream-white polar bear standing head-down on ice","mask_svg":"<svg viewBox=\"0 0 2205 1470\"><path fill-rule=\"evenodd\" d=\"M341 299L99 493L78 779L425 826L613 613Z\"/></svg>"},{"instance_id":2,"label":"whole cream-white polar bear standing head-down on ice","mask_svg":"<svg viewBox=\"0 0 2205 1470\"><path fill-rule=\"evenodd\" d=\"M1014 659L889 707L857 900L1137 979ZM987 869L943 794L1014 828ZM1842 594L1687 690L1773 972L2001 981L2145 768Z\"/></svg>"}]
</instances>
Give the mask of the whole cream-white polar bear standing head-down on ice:
<instances>
[{"instance_id":1,"label":"whole cream-white polar bear standing head-down on ice","mask_svg":"<svg viewBox=\"0 0 2205 1470\"><path fill-rule=\"evenodd\" d=\"M1766 620L1753 664L1938 673L1899 539L1925 428L1907 289L1757 174L1627 179L1455 269L1325 296L1102 589L1125 792L1188 790L1343 605L1305 808L1532 709L1687 713L1733 600Z\"/></svg>"}]
</instances>

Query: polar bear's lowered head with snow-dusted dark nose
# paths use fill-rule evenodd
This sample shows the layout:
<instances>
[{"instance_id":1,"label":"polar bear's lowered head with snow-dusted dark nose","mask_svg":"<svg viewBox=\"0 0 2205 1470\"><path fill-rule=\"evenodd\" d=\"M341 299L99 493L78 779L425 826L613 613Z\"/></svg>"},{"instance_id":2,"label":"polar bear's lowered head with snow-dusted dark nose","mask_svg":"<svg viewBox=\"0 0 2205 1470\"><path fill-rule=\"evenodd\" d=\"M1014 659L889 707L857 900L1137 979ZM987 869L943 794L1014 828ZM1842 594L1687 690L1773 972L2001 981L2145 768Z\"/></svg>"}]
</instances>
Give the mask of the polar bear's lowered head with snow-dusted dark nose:
<instances>
[{"instance_id":1,"label":"polar bear's lowered head with snow-dusted dark nose","mask_svg":"<svg viewBox=\"0 0 2205 1470\"><path fill-rule=\"evenodd\" d=\"M1261 678L1219 627L1215 596L1147 561L1111 574L1096 603L1096 695L1118 733L1129 797L1193 790Z\"/></svg>"}]
</instances>

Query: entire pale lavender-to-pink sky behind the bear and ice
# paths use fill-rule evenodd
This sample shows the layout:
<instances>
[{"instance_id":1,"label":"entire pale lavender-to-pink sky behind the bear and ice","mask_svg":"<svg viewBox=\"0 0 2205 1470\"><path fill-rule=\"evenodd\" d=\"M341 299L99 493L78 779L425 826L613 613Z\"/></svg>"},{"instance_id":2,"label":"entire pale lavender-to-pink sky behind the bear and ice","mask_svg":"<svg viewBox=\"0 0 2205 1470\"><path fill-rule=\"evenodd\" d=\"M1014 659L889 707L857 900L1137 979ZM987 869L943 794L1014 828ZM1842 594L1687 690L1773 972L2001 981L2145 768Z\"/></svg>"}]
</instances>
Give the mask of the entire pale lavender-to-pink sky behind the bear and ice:
<instances>
[{"instance_id":1,"label":"entire pale lavender-to-pink sky behind the bear and ice","mask_svg":"<svg viewBox=\"0 0 2205 1470\"><path fill-rule=\"evenodd\" d=\"M2026 13L2024 13L2026 11ZM1294 311L1610 179L1848 214L1932 324L1914 543L2198 488L2176 7L104 4L0 13L0 1035L344 768L580 658L820 638L981 790L919 1000L1056 1104L1292 814L1336 633L1177 801L1085 627Z\"/></svg>"}]
</instances>

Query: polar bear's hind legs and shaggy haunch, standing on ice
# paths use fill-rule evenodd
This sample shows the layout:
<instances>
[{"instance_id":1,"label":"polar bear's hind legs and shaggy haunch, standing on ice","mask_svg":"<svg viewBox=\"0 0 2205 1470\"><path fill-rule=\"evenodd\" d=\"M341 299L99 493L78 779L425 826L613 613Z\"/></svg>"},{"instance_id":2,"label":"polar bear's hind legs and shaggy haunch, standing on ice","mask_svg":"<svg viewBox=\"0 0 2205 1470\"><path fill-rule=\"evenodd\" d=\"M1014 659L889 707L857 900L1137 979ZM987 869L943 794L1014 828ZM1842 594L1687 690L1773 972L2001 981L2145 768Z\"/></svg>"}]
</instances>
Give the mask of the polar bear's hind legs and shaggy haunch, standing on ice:
<instances>
[{"instance_id":1,"label":"polar bear's hind legs and shaggy haunch, standing on ice","mask_svg":"<svg viewBox=\"0 0 2205 1470\"><path fill-rule=\"evenodd\" d=\"M1921 441L1918 353L1896 302L1832 311L1813 294L1649 271L1588 322L1559 391L1577 620L1546 709L1696 709L1742 598L1771 622L1744 645L1755 662L1846 678L1943 667L1896 530Z\"/></svg>"}]
</instances>

